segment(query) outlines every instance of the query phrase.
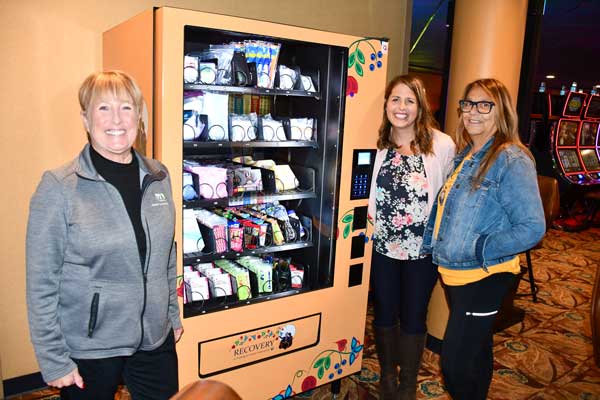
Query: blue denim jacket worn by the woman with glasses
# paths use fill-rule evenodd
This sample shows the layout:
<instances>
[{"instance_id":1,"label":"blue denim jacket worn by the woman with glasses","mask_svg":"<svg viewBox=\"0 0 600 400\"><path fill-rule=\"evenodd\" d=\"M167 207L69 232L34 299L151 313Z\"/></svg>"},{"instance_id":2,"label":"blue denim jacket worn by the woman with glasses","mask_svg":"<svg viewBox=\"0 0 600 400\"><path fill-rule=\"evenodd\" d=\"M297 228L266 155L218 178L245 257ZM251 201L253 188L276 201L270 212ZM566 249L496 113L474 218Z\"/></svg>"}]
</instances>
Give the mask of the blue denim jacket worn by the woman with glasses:
<instances>
[{"instance_id":1,"label":"blue denim jacket worn by the woman with glasses","mask_svg":"<svg viewBox=\"0 0 600 400\"><path fill-rule=\"evenodd\" d=\"M449 269L483 268L510 260L530 249L545 233L545 218L533 161L518 147L502 150L481 186L472 178L494 138L465 160L448 193L437 239L433 238L437 201L425 228L422 254ZM455 168L468 154L457 155Z\"/></svg>"}]
</instances>

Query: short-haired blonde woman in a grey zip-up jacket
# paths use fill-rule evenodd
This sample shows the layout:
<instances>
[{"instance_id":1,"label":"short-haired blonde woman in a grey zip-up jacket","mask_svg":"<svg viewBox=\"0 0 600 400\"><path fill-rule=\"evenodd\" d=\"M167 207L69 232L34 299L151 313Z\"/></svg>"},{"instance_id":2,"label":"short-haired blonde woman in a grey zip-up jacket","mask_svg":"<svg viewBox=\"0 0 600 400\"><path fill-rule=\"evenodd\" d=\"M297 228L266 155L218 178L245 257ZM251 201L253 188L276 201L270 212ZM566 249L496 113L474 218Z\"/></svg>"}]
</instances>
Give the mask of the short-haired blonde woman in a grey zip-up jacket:
<instances>
[{"instance_id":1,"label":"short-haired blonde woman in a grey zip-up jacket","mask_svg":"<svg viewBox=\"0 0 600 400\"><path fill-rule=\"evenodd\" d=\"M142 94L127 74L79 89L89 143L44 173L27 227L27 305L44 380L63 399L177 392L175 209L164 165L133 150Z\"/></svg>"}]
</instances>

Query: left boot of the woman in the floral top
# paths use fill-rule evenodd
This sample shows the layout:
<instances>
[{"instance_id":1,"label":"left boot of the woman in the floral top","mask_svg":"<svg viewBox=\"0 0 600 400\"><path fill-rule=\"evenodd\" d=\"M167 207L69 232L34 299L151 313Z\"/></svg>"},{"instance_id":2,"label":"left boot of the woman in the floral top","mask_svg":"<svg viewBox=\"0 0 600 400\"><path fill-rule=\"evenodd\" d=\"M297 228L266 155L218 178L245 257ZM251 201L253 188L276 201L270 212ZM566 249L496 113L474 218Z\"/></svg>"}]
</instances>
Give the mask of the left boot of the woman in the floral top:
<instances>
[{"instance_id":1,"label":"left boot of the woman in the floral top","mask_svg":"<svg viewBox=\"0 0 600 400\"><path fill-rule=\"evenodd\" d=\"M379 398L393 400L396 395L398 369L396 362L397 328L375 328L375 347L381 369L379 378Z\"/></svg>"}]
</instances>

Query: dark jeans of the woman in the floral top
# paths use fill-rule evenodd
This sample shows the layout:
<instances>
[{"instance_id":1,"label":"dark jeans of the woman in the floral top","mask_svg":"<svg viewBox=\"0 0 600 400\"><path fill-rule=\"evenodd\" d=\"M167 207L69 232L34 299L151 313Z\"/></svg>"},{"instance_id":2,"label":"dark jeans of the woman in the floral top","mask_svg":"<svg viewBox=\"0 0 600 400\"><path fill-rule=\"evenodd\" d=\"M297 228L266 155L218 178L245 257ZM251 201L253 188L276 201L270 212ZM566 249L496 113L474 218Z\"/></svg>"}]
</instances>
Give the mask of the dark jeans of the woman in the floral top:
<instances>
[{"instance_id":1,"label":"dark jeans of the woman in the floral top","mask_svg":"<svg viewBox=\"0 0 600 400\"><path fill-rule=\"evenodd\" d=\"M437 278L437 267L431 263L431 257L396 260L373 251L373 325L389 328L399 320L404 333L427 332L427 307Z\"/></svg>"}]
</instances>

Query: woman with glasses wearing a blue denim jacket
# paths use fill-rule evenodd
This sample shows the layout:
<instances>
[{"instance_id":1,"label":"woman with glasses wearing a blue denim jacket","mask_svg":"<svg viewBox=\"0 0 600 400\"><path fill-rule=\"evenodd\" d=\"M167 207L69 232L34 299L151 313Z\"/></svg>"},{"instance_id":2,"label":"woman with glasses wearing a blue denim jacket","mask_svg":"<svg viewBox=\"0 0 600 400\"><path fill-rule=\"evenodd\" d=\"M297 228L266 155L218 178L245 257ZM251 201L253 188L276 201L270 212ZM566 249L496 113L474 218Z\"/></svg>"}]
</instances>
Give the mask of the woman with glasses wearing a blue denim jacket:
<instances>
[{"instance_id":1,"label":"woman with glasses wearing a blue denim jacket","mask_svg":"<svg viewBox=\"0 0 600 400\"><path fill-rule=\"evenodd\" d=\"M484 400L496 316L516 284L518 254L542 238L545 220L506 87L495 79L468 84L459 112L456 167L437 197L421 253L433 255L449 300L446 389L455 400Z\"/></svg>"}]
</instances>

